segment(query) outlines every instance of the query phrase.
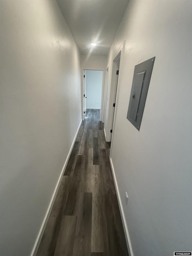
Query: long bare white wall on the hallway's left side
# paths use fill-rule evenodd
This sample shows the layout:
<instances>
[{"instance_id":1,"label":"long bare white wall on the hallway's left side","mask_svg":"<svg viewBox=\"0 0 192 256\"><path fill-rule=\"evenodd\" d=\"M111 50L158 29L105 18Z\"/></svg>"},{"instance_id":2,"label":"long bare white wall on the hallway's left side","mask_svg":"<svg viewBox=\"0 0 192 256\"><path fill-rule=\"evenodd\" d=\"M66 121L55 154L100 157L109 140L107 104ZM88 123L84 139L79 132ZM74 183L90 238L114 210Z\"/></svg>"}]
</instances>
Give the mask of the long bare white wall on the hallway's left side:
<instances>
[{"instance_id":1,"label":"long bare white wall on the hallway's left side","mask_svg":"<svg viewBox=\"0 0 192 256\"><path fill-rule=\"evenodd\" d=\"M80 54L56 1L0 1L1 252L30 255L81 121Z\"/></svg>"}]
</instances>

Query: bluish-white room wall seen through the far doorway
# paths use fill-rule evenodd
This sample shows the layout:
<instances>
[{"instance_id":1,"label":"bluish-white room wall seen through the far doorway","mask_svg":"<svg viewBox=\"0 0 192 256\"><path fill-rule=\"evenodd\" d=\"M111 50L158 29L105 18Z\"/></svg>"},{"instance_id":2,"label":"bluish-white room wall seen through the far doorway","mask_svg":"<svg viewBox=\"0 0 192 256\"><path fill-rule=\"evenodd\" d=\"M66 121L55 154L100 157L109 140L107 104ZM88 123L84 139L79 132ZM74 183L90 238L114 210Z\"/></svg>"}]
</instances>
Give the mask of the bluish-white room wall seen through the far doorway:
<instances>
[{"instance_id":1,"label":"bluish-white room wall seen through the far doorway","mask_svg":"<svg viewBox=\"0 0 192 256\"><path fill-rule=\"evenodd\" d=\"M86 109L101 109L103 71L85 70Z\"/></svg>"}]
</instances>

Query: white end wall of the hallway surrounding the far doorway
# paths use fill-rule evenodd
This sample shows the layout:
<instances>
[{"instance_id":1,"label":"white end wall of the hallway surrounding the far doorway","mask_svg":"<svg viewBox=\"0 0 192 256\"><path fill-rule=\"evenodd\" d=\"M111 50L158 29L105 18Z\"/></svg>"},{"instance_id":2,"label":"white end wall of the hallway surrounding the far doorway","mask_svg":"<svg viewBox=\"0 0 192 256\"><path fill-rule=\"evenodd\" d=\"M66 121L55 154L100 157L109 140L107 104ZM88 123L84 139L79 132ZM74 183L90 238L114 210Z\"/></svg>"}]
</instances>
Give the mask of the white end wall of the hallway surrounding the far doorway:
<instances>
[{"instance_id":1,"label":"white end wall of the hallway surrounding the far doorway","mask_svg":"<svg viewBox=\"0 0 192 256\"><path fill-rule=\"evenodd\" d=\"M101 93L101 120L103 115L105 71L107 66L107 56L81 55L81 115L83 116L83 70L103 70L102 93Z\"/></svg>"}]
</instances>

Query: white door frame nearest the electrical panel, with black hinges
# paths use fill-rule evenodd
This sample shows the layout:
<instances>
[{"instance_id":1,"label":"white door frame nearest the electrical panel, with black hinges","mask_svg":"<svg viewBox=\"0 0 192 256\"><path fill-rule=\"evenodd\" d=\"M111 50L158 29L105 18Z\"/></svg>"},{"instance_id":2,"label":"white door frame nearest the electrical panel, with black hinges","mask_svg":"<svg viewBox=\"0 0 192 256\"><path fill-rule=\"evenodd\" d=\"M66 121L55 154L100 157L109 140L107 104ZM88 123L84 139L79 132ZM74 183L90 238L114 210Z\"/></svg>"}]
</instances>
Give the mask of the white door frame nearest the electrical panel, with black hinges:
<instances>
[{"instance_id":1,"label":"white door frame nearest the electrical panel, with black hinges","mask_svg":"<svg viewBox=\"0 0 192 256\"><path fill-rule=\"evenodd\" d=\"M113 145L113 134L114 134L114 129L115 129L116 110L118 107L118 92L119 92L119 86L120 86L121 77L122 77L122 63L123 63L124 52L125 52L125 40L119 47L118 51L116 51L114 53L110 93L107 93L108 95L110 95L110 99L109 99L109 110L108 110L108 122L107 122L107 127L105 127L104 133L106 136L106 141L111 141L111 149L112 149L112 145ZM120 58L120 63L119 63L118 83L116 84L116 82L117 82L116 70L117 70L117 62L118 62L119 55L121 56L121 58ZM115 97L116 86L117 86L116 106L115 106L114 117L113 117L113 103L114 103L113 101L114 101L114 97ZM112 125L113 125L113 133L110 132ZM110 153L110 155L111 155L111 153Z\"/></svg>"}]
</instances>

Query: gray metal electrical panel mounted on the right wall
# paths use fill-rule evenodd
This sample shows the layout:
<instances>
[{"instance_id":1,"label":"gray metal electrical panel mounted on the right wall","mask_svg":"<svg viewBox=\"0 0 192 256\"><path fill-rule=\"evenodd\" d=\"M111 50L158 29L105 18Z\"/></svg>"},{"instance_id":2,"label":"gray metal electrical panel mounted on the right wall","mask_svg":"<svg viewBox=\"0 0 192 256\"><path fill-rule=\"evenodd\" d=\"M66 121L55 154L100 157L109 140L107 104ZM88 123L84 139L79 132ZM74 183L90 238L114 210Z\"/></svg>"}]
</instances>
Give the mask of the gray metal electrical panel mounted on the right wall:
<instances>
[{"instance_id":1,"label":"gray metal electrical panel mounted on the right wall","mask_svg":"<svg viewBox=\"0 0 192 256\"><path fill-rule=\"evenodd\" d=\"M135 66L127 119L140 130L155 57Z\"/></svg>"}]
</instances>

